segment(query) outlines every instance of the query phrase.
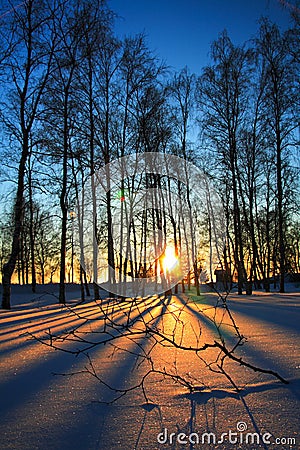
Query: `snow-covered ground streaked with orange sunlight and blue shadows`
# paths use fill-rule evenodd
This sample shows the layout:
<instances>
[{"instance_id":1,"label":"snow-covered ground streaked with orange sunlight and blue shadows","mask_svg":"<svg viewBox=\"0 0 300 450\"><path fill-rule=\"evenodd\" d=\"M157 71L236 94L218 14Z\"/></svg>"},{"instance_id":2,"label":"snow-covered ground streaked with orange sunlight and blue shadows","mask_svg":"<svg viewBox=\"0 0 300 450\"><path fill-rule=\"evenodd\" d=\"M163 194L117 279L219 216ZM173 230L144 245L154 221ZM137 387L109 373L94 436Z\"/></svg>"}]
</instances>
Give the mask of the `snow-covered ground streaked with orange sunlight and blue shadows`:
<instances>
[{"instance_id":1,"label":"snow-covered ground streaked with orange sunlight and blue shadows","mask_svg":"<svg viewBox=\"0 0 300 450\"><path fill-rule=\"evenodd\" d=\"M57 335L83 324L81 330L92 332L91 340L97 338L102 323L97 304L91 300L77 304L80 293L74 288L67 295L71 309L61 307L56 290L39 287L33 295L28 287L15 287L12 310L0 311L1 449L300 448L300 296L293 286L287 294L255 292L228 299L240 332L248 338L238 356L278 372L289 384L229 362L226 369L243 388L239 394L223 375L207 370L197 355L156 345L152 351L156 367L172 368L176 361L178 373L197 377L202 389L189 393L154 374L146 382L150 403L139 389L112 404L103 402L110 402L115 393L86 373L91 366L84 355L54 350L32 337L49 331ZM213 342L210 319L215 299L207 293L197 304L186 306L184 296L173 296L163 319L164 332L173 329L174 317L180 314L183 343L194 345L196 336L200 343ZM158 300L148 299L140 312L155 316L159 307ZM114 314L121 320L123 313ZM222 326L225 339L234 342L230 323L225 320ZM74 351L79 343L59 345ZM150 340L121 338L118 345L124 351L112 355L107 345L95 347L89 355L103 381L126 388L141 379L144 368L136 365L136 347L147 349ZM213 361L210 351L206 362Z\"/></svg>"}]
</instances>

